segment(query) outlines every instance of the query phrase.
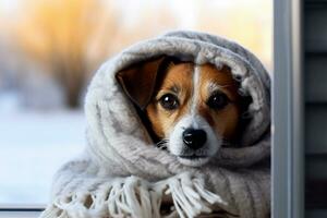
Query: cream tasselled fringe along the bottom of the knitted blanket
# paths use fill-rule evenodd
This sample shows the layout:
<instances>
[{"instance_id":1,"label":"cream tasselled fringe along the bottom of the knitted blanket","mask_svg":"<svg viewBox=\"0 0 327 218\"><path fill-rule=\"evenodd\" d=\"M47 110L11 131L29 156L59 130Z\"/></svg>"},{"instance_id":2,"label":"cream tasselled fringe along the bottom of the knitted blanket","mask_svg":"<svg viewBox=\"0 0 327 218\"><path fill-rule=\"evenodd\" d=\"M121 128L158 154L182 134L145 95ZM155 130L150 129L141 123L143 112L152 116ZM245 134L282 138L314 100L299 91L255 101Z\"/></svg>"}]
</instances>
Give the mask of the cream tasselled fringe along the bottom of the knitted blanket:
<instances>
[{"instance_id":1,"label":"cream tasselled fringe along the bottom of the knitted blanket","mask_svg":"<svg viewBox=\"0 0 327 218\"><path fill-rule=\"evenodd\" d=\"M137 177L114 179L94 193L76 192L57 197L41 218L135 217L160 218L164 195L170 195L171 214L182 218L210 213L210 205L227 205L220 196L205 189L204 180L182 173L149 183Z\"/></svg>"}]
</instances>

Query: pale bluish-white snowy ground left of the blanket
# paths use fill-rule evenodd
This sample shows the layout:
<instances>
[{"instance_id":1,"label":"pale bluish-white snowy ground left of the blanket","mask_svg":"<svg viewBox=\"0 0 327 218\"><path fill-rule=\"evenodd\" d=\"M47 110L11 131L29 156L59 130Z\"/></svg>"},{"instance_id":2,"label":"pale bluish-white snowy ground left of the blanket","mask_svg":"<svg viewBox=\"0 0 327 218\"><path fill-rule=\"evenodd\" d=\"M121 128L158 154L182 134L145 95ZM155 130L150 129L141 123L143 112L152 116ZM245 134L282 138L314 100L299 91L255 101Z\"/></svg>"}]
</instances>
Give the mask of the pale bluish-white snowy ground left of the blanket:
<instances>
[{"instance_id":1,"label":"pale bluish-white snowy ground left of the blanket","mask_svg":"<svg viewBox=\"0 0 327 218\"><path fill-rule=\"evenodd\" d=\"M0 113L0 207L44 205L56 170L85 145L82 111Z\"/></svg>"}]
</instances>

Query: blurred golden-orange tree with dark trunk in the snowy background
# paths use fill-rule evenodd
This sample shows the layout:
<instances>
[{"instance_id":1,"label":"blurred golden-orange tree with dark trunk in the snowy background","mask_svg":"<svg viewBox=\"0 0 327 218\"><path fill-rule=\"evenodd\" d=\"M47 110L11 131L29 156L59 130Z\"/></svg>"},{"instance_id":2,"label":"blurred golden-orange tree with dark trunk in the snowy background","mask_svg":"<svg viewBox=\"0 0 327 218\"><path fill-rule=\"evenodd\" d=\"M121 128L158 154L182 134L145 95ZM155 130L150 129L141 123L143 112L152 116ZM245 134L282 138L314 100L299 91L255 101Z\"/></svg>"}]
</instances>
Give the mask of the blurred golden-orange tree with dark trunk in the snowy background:
<instances>
[{"instance_id":1,"label":"blurred golden-orange tree with dark trunk in the snowy background","mask_svg":"<svg viewBox=\"0 0 327 218\"><path fill-rule=\"evenodd\" d=\"M27 3L15 32L19 43L27 58L62 85L66 105L76 108L89 72L110 53L108 38L118 26L114 14L100 0Z\"/></svg>"}]
</instances>

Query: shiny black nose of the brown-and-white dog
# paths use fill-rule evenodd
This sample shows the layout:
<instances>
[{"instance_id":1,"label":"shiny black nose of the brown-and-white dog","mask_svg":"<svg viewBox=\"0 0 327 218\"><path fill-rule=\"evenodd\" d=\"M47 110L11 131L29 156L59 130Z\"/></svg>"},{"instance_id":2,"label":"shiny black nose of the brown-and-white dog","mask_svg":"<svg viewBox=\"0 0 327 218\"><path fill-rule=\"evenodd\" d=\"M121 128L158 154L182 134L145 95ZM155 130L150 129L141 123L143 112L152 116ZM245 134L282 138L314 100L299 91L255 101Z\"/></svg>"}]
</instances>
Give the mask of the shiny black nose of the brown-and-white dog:
<instances>
[{"instance_id":1,"label":"shiny black nose of the brown-and-white dog","mask_svg":"<svg viewBox=\"0 0 327 218\"><path fill-rule=\"evenodd\" d=\"M207 141L207 134L203 130L186 129L183 132L183 142L190 148L198 149L203 147L206 141Z\"/></svg>"}]
</instances>

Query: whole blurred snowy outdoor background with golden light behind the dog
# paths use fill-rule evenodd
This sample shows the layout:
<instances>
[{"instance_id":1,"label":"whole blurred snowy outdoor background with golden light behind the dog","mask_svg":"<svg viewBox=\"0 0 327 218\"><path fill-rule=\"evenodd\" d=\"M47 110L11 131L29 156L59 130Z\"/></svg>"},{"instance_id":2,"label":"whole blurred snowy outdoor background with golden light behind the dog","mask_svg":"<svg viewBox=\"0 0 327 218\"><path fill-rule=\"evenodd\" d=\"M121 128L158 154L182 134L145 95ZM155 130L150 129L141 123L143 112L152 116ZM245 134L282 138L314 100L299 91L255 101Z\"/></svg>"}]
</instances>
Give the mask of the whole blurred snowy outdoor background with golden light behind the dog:
<instances>
[{"instance_id":1,"label":"whole blurred snowy outdoor background with golden light behind the dog","mask_svg":"<svg viewBox=\"0 0 327 218\"><path fill-rule=\"evenodd\" d=\"M44 205L83 150L83 99L101 62L172 29L235 40L271 72L272 0L0 0L0 207Z\"/></svg>"}]
</instances>

